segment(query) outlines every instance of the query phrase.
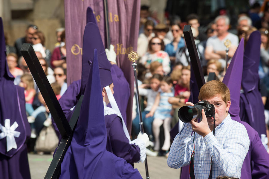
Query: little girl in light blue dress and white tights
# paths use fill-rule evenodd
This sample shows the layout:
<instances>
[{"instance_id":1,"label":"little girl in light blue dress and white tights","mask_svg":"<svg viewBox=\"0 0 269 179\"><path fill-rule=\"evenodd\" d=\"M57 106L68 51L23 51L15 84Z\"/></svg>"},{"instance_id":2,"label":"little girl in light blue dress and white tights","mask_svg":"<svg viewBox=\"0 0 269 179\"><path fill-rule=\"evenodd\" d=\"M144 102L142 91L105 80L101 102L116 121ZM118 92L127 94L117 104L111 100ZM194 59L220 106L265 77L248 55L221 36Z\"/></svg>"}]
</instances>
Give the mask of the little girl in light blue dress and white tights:
<instances>
[{"instance_id":1,"label":"little girl in light blue dress and white tights","mask_svg":"<svg viewBox=\"0 0 269 179\"><path fill-rule=\"evenodd\" d=\"M149 115L152 115L154 112L154 120L152 123L153 134L155 138L154 150L160 150L160 126L163 124L164 130L164 143L162 146L162 150L166 151L170 147L170 130L171 130L171 119L172 116L170 114L172 110L172 105L168 102L169 97L174 96L174 92L172 90L173 81L170 77L163 77L161 81L161 90L162 92L158 93L154 105L149 112ZM155 111L156 110L156 111Z\"/></svg>"}]
</instances>

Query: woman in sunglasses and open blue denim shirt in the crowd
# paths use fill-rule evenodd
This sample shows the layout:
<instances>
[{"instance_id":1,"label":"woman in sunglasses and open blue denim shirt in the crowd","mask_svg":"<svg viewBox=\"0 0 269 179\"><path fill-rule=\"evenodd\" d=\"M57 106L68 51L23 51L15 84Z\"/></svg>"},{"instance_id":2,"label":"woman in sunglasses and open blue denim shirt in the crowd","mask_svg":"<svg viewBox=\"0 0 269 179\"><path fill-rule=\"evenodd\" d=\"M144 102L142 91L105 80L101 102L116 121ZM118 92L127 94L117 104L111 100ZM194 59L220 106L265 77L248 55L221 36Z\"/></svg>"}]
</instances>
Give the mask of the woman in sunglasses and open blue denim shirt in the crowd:
<instances>
[{"instance_id":1,"label":"woman in sunglasses and open blue denim shirt in the crowd","mask_svg":"<svg viewBox=\"0 0 269 179\"><path fill-rule=\"evenodd\" d=\"M164 51L166 51L168 53L170 60L173 63L173 62L175 62L176 51L178 49L184 47L185 42L184 42L184 39L181 37L183 32L178 24L172 24L171 31L172 31L174 39L171 43L169 43L165 46Z\"/></svg>"}]
</instances>

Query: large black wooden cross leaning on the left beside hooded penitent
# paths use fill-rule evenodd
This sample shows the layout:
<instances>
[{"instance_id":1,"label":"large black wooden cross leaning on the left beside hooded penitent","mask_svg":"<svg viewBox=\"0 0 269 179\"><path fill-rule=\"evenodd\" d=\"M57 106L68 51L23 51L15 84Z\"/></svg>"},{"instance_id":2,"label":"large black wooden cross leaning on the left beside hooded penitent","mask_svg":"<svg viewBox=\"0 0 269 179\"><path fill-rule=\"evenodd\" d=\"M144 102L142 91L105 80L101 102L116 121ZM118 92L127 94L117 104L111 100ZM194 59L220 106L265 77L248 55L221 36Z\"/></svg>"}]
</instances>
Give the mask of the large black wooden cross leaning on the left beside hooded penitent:
<instances>
[{"instance_id":1,"label":"large black wooden cross leaning on the left beside hooded penitent","mask_svg":"<svg viewBox=\"0 0 269 179\"><path fill-rule=\"evenodd\" d=\"M51 112L57 128L62 136L62 140L59 143L59 146L56 150L56 153L51 161L51 164L48 168L48 171L45 175L45 179L56 179L59 177L61 172L61 163L64 158L65 152L71 144L73 132L77 123L77 119L80 114L80 108L82 104L83 95L81 95L75 109L74 113L68 123L65 118L65 115L62 111L62 108L51 88L50 83L42 69L42 66L39 63L38 58L36 57L35 51L31 44L23 44L21 49L22 56L27 63L31 74L33 75L36 85L38 86L40 93L42 94L48 109Z\"/></svg>"}]
</instances>

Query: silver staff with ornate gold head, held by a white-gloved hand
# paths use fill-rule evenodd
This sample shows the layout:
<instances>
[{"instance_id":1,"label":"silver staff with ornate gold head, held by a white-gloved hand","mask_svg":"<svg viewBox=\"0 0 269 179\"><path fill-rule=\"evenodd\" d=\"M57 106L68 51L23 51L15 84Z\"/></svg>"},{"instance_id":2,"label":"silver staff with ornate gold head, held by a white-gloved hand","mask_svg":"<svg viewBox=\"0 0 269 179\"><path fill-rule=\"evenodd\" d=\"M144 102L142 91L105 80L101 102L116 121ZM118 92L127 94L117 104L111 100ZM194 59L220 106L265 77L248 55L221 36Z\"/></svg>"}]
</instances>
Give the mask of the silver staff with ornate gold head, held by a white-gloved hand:
<instances>
[{"instance_id":1,"label":"silver staff with ornate gold head, held by a white-gloved hand","mask_svg":"<svg viewBox=\"0 0 269 179\"><path fill-rule=\"evenodd\" d=\"M143 128L143 121L142 121L142 115L141 115L141 107L140 107L140 99L139 99L139 91L138 91L138 84L137 84L137 72L136 72L136 66L137 66L137 59L138 55L136 52L131 51L128 55L128 58L130 61L133 62L132 67L134 68L134 75L135 75L135 88L136 88L136 100L137 100L137 108L138 108L138 116L139 116L139 125L140 125L140 131L143 134L144 128ZM146 179L149 179L149 169L148 169L148 162L147 157L145 158L145 168L146 168Z\"/></svg>"}]
</instances>

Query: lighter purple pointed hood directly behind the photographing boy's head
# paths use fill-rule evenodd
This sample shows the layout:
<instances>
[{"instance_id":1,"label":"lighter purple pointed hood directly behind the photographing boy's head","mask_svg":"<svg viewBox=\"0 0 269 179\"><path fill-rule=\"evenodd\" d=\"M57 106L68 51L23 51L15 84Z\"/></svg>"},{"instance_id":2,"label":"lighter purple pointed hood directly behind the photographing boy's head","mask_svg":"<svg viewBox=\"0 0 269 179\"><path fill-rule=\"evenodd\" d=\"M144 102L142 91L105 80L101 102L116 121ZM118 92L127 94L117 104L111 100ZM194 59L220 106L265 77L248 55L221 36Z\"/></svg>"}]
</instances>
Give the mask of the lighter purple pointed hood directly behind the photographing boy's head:
<instances>
[{"instance_id":1,"label":"lighter purple pointed hood directly behind the photographing boy's head","mask_svg":"<svg viewBox=\"0 0 269 179\"><path fill-rule=\"evenodd\" d=\"M222 82L229 88L231 95L231 106L229 113L233 120L240 121L239 117L239 101L240 101L240 89L241 79L243 71L243 56L244 56L244 39L242 38L233 55L227 72Z\"/></svg>"}]
</instances>

